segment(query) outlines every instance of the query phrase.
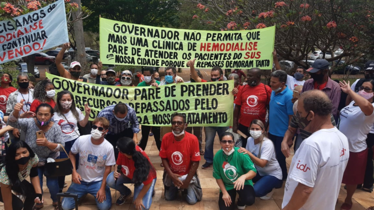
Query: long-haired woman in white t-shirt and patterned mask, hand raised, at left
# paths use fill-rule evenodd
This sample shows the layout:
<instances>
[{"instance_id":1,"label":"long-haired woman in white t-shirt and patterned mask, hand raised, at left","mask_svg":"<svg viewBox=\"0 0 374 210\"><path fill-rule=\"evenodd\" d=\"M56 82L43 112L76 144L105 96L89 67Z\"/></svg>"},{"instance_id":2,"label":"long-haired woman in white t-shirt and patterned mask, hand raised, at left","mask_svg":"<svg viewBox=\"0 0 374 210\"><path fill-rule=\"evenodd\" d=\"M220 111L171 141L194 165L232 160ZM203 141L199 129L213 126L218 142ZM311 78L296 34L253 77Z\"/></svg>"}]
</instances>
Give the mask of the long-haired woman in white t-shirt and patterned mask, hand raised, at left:
<instances>
[{"instance_id":1,"label":"long-haired woman in white t-shirt and patterned mask, hand raised, at left","mask_svg":"<svg viewBox=\"0 0 374 210\"><path fill-rule=\"evenodd\" d=\"M54 122L60 126L62 138L65 140L65 150L69 154L74 142L80 136L78 123L85 127L91 113L91 108L84 105L85 114L75 106L74 96L68 90L57 93L57 104L55 106ZM66 153L60 153L60 158L67 158ZM65 176L58 177L60 192L65 186Z\"/></svg>"}]
</instances>

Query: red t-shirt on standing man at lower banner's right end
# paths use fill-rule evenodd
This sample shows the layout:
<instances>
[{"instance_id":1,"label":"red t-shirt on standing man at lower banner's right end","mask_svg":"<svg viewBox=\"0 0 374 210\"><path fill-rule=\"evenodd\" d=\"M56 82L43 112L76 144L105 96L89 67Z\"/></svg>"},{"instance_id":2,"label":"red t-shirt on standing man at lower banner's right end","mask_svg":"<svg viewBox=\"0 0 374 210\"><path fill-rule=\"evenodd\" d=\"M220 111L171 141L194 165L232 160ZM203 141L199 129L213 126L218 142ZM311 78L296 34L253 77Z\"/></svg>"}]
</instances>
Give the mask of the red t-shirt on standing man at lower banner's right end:
<instances>
[{"instance_id":1,"label":"red t-shirt on standing man at lower banner's right end","mask_svg":"<svg viewBox=\"0 0 374 210\"><path fill-rule=\"evenodd\" d=\"M243 86L234 101L234 104L241 106L239 123L246 127L255 119L265 123L266 106L269 105L271 91L269 86L262 83L255 87Z\"/></svg>"}]
</instances>

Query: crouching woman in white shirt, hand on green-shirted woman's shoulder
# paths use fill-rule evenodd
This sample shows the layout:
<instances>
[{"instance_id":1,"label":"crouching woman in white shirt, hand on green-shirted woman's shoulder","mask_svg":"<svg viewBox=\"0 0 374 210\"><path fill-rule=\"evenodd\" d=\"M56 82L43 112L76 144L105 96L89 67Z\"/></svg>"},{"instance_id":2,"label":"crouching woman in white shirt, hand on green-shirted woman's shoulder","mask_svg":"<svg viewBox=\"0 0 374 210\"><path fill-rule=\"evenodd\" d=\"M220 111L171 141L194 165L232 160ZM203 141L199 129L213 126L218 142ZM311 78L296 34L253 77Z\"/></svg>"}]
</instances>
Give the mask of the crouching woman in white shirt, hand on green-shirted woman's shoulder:
<instances>
[{"instance_id":1,"label":"crouching woman in white shirt, hand on green-shirted woman's shoulder","mask_svg":"<svg viewBox=\"0 0 374 210\"><path fill-rule=\"evenodd\" d=\"M248 138L245 149L241 147L238 152L247 154L257 169L257 175L252 179L255 182L256 197L269 200L274 188L282 187L282 170L275 156L273 141L267 138L265 126L261 120L253 120L249 126L251 137Z\"/></svg>"}]
</instances>

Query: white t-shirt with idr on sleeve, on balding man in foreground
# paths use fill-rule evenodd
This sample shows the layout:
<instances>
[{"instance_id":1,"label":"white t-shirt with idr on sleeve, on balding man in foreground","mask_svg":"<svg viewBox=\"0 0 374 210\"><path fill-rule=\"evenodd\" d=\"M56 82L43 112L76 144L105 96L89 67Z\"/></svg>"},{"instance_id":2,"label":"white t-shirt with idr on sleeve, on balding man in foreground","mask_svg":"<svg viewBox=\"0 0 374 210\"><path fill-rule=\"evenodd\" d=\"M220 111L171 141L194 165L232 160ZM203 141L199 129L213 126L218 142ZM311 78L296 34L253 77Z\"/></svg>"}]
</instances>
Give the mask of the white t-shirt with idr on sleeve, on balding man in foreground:
<instances>
[{"instance_id":1,"label":"white t-shirt with idr on sleeve, on balding man in foreground","mask_svg":"<svg viewBox=\"0 0 374 210\"><path fill-rule=\"evenodd\" d=\"M336 127L321 129L302 141L292 158L282 208L299 183L313 188L300 210L334 210L349 149L347 138Z\"/></svg>"}]
</instances>

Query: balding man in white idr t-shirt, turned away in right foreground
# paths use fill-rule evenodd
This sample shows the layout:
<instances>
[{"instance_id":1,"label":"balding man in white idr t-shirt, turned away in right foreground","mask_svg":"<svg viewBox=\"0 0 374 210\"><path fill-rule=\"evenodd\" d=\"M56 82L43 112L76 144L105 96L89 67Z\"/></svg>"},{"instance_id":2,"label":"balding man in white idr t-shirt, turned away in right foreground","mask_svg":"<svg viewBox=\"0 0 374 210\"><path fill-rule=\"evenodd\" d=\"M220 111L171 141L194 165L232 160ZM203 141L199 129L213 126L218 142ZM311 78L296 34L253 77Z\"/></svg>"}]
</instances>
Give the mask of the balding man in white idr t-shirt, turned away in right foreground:
<instances>
[{"instance_id":1,"label":"balding man in white idr t-shirt, turned away in right foreground","mask_svg":"<svg viewBox=\"0 0 374 210\"><path fill-rule=\"evenodd\" d=\"M282 210L335 209L349 145L347 137L331 123L332 108L320 90L309 90L299 97L299 115L311 121L305 130L312 135L292 158Z\"/></svg>"}]
</instances>

